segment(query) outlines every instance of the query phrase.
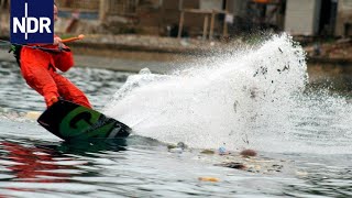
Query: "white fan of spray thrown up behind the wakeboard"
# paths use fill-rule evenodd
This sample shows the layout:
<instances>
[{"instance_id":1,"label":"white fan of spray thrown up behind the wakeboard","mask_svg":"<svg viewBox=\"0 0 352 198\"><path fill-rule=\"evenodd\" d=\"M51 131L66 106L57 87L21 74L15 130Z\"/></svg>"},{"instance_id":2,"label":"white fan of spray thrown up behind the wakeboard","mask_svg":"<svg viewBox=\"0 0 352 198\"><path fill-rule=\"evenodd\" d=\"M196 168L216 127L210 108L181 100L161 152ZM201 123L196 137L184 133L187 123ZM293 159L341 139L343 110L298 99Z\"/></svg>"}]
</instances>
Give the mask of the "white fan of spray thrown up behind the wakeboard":
<instances>
[{"instance_id":1,"label":"white fan of spray thrown up behind the wakeboard","mask_svg":"<svg viewBox=\"0 0 352 198\"><path fill-rule=\"evenodd\" d=\"M304 135L296 133L307 116L301 102L311 101L302 99L307 82L304 50L289 35L275 35L257 48L220 55L173 75L142 69L103 112L138 135L167 143L301 151L310 146L301 145Z\"/></svg>"}]
</instances>

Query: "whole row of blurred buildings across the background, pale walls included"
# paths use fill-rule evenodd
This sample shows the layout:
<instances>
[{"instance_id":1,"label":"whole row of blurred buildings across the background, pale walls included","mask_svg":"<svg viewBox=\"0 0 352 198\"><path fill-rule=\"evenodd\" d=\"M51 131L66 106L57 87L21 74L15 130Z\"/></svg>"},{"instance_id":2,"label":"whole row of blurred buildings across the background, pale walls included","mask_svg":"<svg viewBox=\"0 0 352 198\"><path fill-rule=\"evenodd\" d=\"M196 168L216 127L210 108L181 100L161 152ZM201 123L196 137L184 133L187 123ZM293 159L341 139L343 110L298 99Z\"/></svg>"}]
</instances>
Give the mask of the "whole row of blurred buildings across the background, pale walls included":
<instances>
[{"instance_id":1,"label":"whole row of blurred buildings across the background, pale walls included","mask_svg":"<svg viewBox=\"0 0 352 198\"><path fill-rule=\"evenodd\" d=\"M0 30L9 29L0 0ZM221 37L258 31L352 35L352 0L56 0L67 33ZM1 33L0 32L0 33Z\"/></svg>"}]
</instances>

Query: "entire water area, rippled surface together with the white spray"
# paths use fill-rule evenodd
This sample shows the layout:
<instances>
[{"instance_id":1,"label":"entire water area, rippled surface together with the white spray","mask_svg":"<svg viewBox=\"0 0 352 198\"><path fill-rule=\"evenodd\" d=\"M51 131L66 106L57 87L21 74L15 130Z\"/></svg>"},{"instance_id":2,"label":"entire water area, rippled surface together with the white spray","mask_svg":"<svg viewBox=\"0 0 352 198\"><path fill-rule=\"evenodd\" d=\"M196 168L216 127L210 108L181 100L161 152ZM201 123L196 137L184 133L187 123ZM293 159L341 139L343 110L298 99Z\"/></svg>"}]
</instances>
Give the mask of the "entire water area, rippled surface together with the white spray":
<instances>
[{"instance_id":1,"label":"entire water area, rippled surface together with the white spray","mask_svg":"<svg viewBox=\"0 0 352 198\"><path fill-rule=\"evenodd\" d=\"M0 197L352 196L351 74L308 74L285 34L180 67L69 70L133 134L67 143L36 123L42 97L0 62Z\"/></svg>"}]
</instances>

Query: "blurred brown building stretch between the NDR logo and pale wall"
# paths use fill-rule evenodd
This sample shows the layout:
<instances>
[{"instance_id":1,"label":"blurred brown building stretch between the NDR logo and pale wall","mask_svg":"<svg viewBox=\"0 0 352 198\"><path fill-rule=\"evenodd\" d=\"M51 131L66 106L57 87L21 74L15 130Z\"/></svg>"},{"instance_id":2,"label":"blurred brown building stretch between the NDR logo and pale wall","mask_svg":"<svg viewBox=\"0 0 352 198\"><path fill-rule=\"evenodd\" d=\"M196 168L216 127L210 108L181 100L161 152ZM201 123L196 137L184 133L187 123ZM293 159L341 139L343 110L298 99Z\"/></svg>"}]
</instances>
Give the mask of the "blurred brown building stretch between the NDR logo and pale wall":
<instances>
[{"instance_id":1,"label":"blurred brown building stretch between the NDR logo and pale wall","mask_svg":"<svg viewBox=\"0 0 352 198\"><path fill-rule=\"evenodd\" d=\"M177 36L213 36L283 30L286 0L56 0L61 16L79 12L90 31ZM183 19L182 19L183 16ZM75 16L76 18L76 16ZM97 25L97 23L96 23ZM62 26L62 25L58 25ZM62 26L61 30L64 28ZM74 23L66 31L74 31Z\"/></svg>"}]
</instances>

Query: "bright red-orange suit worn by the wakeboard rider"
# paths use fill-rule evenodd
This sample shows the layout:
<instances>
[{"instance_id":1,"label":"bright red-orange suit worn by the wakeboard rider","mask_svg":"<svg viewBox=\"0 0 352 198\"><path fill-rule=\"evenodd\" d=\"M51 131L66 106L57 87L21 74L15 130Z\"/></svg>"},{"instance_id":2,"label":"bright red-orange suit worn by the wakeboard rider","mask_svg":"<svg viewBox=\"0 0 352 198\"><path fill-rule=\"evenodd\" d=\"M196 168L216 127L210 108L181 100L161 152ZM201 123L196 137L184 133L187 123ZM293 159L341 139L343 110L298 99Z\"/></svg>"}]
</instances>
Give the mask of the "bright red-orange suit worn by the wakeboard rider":
<instances>
[{"instance_id":1,"label":"bright red-orange suit worn by the wakeboard rider","mask_svg":"<svg viewBox=\"0 0 352 198\"><path fill-rule=\"evenodd\" d=\"M56 45L45 45L44 47L58 48ZM66 72L74 66L72 52L67 46L64 47L66 51L45 52L23 46L20 53L22 76L29 86L44 97L47 107L53 105L53 98L62 97L65 100L91 108L85 94L67 78L56 73L56 68Z\"/></svg>"}]
</instances>

